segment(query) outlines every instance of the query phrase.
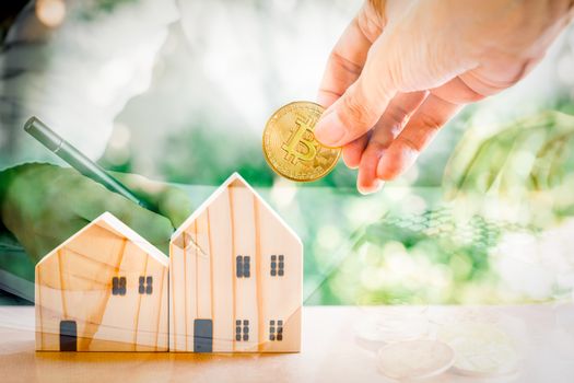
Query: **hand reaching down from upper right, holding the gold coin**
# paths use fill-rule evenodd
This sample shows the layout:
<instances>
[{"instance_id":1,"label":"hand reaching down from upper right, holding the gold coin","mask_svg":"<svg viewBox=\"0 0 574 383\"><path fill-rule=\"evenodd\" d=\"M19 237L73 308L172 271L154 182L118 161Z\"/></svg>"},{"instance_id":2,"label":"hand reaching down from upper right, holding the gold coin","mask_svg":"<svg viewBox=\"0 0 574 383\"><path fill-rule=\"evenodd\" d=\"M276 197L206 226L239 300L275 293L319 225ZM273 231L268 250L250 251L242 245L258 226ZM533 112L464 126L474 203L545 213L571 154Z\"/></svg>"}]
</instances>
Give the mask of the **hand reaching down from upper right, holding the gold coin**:
<instances>
[{"instance_id":1,"label":"hand reaching down from upper right, holding the gold coin","mask_svg":"<svg viewBox=\"0 0 574 383\"><path fill-rule=\"evenodd\" d=\"M572 0L370 0L335 46L315 128L376 192L461 107L519 81L573 15Z\"/></svg>"}]
</instances>

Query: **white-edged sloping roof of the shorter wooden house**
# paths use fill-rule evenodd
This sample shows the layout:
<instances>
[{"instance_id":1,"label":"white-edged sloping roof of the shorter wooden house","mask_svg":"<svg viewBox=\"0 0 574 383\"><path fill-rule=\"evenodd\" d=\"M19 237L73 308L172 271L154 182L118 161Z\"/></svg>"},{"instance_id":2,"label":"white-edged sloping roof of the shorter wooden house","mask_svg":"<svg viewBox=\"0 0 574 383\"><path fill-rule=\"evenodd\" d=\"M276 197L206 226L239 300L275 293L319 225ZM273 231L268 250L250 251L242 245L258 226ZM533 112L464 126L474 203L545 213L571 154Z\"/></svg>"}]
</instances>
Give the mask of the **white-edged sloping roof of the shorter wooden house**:
<instances>
[{"instance_id":1,"label":"white-edged sloping roof of the shorter wooden house","mask_svg":"<svg viewBox=\"0 0 574 383\"><path fill-rule=\"evenodd\" d=\"M120 233L121 235L126 236L130 242L132 242L136 246L138 246L140 249L142 249L144 253L149 254L152 258L161 263L163 266L168 267L169 260L165 254L163 254L157 247L152 245L150 242L148 242L143 236L134 232L131 228L129 228L126 223L121 222L119 219L116 218L113 213L106 211L96 219L94 219L92 222L87 223L85 227L80 229L75 234L70 236L68 240L66 240L63 243L61 243L58 247L46 254L36 266L39 266L45 259L50 257L51 255L56 254L56 252L80 235L82 235L89 228L93 227L94 224L97 224L98 222L105 222L107 225L112 227L115 231Z\"/></svg>"}]
</instances>

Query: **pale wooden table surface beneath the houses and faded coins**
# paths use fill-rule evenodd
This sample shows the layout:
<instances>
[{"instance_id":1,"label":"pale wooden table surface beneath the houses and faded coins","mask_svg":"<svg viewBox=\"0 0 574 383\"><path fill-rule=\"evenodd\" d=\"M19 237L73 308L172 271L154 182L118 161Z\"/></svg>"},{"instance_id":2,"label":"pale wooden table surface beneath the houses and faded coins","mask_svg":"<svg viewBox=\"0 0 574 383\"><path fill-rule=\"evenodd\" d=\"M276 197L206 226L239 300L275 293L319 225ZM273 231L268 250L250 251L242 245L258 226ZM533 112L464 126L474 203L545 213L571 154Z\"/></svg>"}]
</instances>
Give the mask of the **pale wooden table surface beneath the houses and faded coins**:
<instances>
[{"instance_id":1,"label":"pale wooden table surface beneath the houses and faded coins","mask_svg":"<svg viewBox=\"0 0 574 383\"><path fill-rule=\"evenodd\" d=\"M488 380L452 370L425 382L574 382L574 305L305 306L303 348L290 355L36 352L34 307L0 306L1 382L391 382L377 372L376 347L356 336L358 324L389 312L433 318L496 322L522 361L511 376ZM464 320L456 320L464 318ZM442 326L447 324L443 323ZM448 324L448 325L452 325Z\"/></svg>"}]
</instances>

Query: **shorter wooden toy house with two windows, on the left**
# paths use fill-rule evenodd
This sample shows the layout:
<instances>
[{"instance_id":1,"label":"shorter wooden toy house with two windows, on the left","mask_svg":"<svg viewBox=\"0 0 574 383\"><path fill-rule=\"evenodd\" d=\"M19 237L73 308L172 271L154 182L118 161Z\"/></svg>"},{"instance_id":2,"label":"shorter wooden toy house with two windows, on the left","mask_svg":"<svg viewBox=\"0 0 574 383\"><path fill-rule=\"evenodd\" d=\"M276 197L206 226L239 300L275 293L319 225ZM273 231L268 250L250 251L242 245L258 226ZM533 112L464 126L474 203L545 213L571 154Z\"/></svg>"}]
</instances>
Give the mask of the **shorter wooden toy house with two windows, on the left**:
<instances>
[{"instance_id":1,"label":"shorter wooden toy house with two windows, on the left","mask_svg":"<svg viewBox=\"0 0 574 383\"><path fill-rule=\"evenodd\" d=\"M60 323L73 321L78 351L167 351L167 257L102 214L36 265L36 349L60 350Z\"/></svg>"}]
</instances>

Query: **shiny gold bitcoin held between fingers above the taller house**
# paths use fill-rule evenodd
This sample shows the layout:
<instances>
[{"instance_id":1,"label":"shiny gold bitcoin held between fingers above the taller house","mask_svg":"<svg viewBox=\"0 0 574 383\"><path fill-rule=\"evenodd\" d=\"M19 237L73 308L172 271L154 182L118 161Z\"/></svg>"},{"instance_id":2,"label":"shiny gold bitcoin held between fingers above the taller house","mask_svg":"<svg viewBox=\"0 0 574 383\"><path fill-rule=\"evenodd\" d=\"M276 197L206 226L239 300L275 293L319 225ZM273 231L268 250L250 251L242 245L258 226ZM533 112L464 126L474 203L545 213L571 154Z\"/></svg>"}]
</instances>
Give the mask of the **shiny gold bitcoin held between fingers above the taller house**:
<instances>
[{"instance_id":1,"label":"shiny gold bitcoin held between fingers above the taller house","mask_svg":"<svg viewBox=\"0 0 574 383\"><path fill-rule=\"evenodd\" d=\"M341 148L315 139L315 124L325 109L311 102L294 102L277 111L263 130L263 154L271 169L285 178L311 182L329 174Z\"/></svg>"}]
</instances>

